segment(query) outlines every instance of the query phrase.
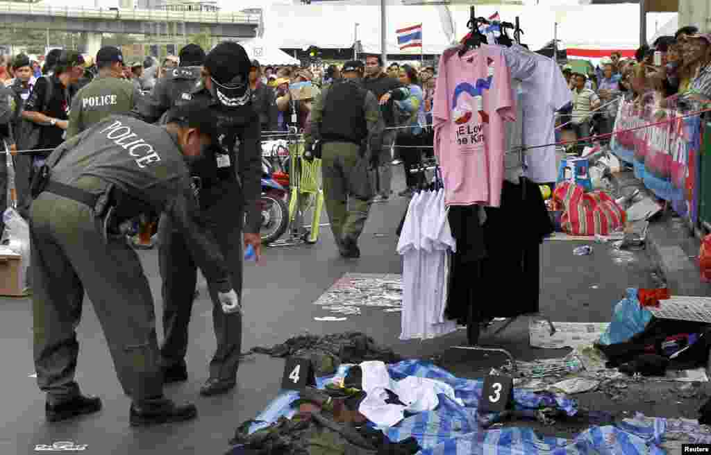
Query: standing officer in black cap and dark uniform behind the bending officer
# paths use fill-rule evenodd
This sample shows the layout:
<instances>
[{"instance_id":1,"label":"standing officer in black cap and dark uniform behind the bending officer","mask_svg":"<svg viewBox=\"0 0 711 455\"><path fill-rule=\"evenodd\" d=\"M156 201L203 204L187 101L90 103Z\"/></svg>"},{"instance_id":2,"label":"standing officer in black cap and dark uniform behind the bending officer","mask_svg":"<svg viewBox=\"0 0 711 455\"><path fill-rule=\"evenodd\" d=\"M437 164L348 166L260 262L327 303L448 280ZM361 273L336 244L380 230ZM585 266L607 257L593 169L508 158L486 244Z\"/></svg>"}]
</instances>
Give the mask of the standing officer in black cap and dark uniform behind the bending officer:
<instances>
[{"instance_id":1,"label":"standing officer in black cap and dark uniform behind the bending officer","mask_svg":"<svg viewBox=\"0 0 711 455\"><path fill-rule=\"evenodd\" d=\"M193 165L199 182L202 216L210 226L230 270L237 295L242 290L242 225L244 245L261 256L262 149L260 118L251 99L251 63L244 48L223 42L205 57L201 84L189 95L205 100L218 118L218 146L208 150L205 159ZM178 68L179 70L179 68ZM163 326L161 356L166 383L188 378L185 355L188 347L197 267L186 248L181 232L171 219L161 216L159 224L159 264L163 278ZM217 291L210 286L217 351L210 361L209 378L201 395L225 393L235 387L242 350L242 314L225 314L220 309Z\"/></svg>"}]
</instances>

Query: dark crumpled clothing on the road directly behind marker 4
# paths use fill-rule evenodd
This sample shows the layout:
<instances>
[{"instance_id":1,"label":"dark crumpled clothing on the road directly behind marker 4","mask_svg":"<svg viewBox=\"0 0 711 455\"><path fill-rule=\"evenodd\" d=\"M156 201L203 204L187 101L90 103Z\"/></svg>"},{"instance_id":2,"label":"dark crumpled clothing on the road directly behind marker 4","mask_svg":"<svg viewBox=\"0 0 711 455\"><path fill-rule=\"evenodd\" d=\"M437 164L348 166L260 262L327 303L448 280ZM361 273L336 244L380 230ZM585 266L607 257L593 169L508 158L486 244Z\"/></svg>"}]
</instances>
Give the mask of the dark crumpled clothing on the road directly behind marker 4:
<instances>
[{"instance_id":1,"label":"dark crumpled clothing on the road directly behind marker 4","mask_svg":"<svg viewBox=\"0 0 711 455\"><path fill-rule=\"evenodd\" d=\"M314 374L317 376L336 373L341 363L374 360L395 363L402 360L392 349L379 346L373 338L361 332L324 336L299 335L272 348L255 347L250 351L252 352L272 357L310 358Z\"/></svg>"}]
</instances>

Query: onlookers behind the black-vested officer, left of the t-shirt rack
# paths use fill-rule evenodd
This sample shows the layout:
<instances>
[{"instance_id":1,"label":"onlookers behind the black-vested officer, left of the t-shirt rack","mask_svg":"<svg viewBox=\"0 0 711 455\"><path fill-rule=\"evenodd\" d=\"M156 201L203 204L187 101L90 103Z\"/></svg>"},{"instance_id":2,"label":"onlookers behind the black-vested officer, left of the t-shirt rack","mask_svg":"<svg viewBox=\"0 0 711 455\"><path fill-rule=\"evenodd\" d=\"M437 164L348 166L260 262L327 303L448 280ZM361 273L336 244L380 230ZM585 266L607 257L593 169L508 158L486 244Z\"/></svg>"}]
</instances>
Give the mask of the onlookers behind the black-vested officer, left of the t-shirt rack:
<instances>
[{"instance_id":1,"label":"onlookers behind the black-vested officer, left of the t-shirt rack","mask_svg":"<svg viewBox=\"0 0 711 455\"><path fill-rule=\"evenodd\" d=\"M257 92L257 106L260 107L262 132L266 136L278 136L295 127L297 131L308 131L311 120L311 109L314 99L321 93L323 87L328 87L334 81L341 79L343 65L328 65L327 67L302 67L299 65L262 67L260 62L252 62L250 83ZM382 104L388 104L391 95L388 90L406 87L407 96L394 100L392 114L384 109L387 128L392 128L392 134L386 138L389 144L385 153L380 156L378 167L378 194L374 202L385 202L392 194L391 165L402 163L405 168L406 187L400 196L410 196L417 186L414 175L407 172L412 165L419 162L422 156L432 156L432 100L437 84L434 67L425 65L403 64L393 62L384 67L381 57L369 55L365 57L365 74L363 82ZM385 78L383 83L380 81ZM306 83L310 85L311 96L292 99L292 84ZM271 89L264 89L268 87ZM378 87L387 87L380 90ZM275 99L272 104L269 100ZM292 121L292 114L296 121ZM400 146L400 147L398 147ZM430 146L429 148L427 146Z\"/></svg>"}]
</instances>

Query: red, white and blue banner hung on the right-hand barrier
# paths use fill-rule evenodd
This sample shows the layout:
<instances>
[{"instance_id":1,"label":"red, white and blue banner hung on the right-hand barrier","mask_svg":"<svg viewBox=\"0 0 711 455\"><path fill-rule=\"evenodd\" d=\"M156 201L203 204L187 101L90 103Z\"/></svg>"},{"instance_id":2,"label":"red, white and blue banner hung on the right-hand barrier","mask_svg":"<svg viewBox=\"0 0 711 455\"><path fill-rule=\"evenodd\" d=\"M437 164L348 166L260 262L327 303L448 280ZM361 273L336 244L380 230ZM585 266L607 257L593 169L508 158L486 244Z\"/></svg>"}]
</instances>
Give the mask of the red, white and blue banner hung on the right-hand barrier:
<instances>
[{"instance_id":1,"label":"red, white and blue banner hung on the right-hand barrier","mask_svg":"<svg viewBox=\"0 0 711 455\"><path fill-rule=\"evenodd\" d=\"M620 160L634 167L634 176L656 197L694 224L698 217L698 157L701 146L699 116L683 118L683 111L621 102L610 147ZM661 123L663 122L663 123ZM640 128L644 125L646 128ZM634 131L628 131L633 128Z\"/></svg>"}]
</instances>

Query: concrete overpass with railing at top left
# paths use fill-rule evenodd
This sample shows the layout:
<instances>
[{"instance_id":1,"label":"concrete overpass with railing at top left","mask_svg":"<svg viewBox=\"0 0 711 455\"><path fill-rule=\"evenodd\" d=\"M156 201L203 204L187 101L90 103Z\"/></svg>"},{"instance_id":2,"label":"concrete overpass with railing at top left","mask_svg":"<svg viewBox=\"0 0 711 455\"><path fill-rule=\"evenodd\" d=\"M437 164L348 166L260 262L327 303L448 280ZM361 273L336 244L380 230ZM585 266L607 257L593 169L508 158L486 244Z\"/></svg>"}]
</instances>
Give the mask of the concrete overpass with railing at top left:
<instances>
[{"instance_id":1,"label":"concrete overpass with railing at top left","mask_svg":"<svg viewBox=\"0 0 711 455\"><path fill-rule=\"evenodd\" d=\"M97 9L0 1L0 27L86 33L90 55L101 47L102 33L192 35L208 31L222 38L254 38L259 26L258 14L237 11Z\"/></svg>"}]
</instances>

